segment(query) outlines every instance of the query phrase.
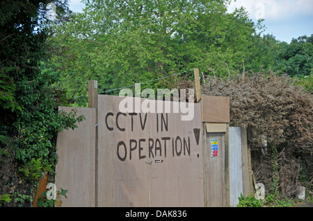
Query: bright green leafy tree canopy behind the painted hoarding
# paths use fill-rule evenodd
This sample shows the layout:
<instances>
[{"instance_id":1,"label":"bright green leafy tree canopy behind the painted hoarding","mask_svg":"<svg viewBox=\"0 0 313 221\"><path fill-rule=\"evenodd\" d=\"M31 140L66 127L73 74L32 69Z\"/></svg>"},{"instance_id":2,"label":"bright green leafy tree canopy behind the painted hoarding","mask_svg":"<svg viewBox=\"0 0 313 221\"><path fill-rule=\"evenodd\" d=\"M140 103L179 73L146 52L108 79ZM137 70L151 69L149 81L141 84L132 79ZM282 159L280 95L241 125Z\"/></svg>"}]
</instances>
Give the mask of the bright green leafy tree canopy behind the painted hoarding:
<instances>
[{"instance_id":1,"label":"bright green leafy tree canopy behind the painted hoarding","mask_svg":"<svg viewBox=\"0 0 313 221\"><path fill-rule=\"evenodd\" d=\"M216 76L234 74L250 56L260 24L242 8L227 14L227 2L85 1L83 13L55 26L49 39L55 56L42 67L60 76L56 87L67 89L67 98L85 96L88 80L97 80L102 92L195 67ZM142 89L171 81L148 82ZM76 102L85 105L86 98Z\"/></svg>"}]
</instances>

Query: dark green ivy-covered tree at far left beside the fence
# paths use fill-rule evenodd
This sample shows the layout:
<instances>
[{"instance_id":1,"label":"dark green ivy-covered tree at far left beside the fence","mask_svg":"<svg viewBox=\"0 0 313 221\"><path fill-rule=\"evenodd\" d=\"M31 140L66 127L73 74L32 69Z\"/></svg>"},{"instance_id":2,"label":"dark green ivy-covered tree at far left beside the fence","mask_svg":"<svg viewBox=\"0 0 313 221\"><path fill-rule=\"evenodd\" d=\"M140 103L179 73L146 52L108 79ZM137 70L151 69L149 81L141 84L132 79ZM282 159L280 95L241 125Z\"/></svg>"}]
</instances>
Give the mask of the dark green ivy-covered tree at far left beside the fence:
<instances>
[{"instance_id":1,"label":"dark green ivy-covered tree at far left beside the fence","mask_svg":"<svg viewBox=\"0 0 313 221\"><path fill-rule=\"evenodd\" d=\"M10 149L18 160L24 185L15 187L11 203L19 206L32 200L33 190L27 186L45 170L54 170L58 132L83 121L76 112L58 112L58 105L67 104L63 91L51 87L58 76L40 69L51 58L47 38L53 34L52 24L65 19L68 10L67 0L54 1L58 19L50 21L47 3L0 2L0 152Z\"/></svg>"}]
</instances>

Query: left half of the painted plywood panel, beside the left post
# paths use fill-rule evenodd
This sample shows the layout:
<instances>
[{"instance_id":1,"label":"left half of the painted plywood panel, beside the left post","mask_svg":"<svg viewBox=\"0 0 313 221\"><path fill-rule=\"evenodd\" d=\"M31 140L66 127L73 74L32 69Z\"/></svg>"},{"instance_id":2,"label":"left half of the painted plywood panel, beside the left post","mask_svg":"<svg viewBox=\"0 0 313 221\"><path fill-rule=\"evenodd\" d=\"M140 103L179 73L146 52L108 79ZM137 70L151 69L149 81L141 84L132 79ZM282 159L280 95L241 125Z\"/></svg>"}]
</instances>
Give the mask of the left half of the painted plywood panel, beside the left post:
<instances>
[{"instance_id":1,"label":"left half of the painted plywood panel, beside the left post","mask_svg":"<svg viewBox=\"0 0 313 221\"><path fill-rule=\"evenodd\" d=\"M136 144L131 139L141 136L141 121L119 114L120 100L98 96L98 206L148 206L148 168L137 160L138 147L130 151Z\"/></svg>"}]
</instances>

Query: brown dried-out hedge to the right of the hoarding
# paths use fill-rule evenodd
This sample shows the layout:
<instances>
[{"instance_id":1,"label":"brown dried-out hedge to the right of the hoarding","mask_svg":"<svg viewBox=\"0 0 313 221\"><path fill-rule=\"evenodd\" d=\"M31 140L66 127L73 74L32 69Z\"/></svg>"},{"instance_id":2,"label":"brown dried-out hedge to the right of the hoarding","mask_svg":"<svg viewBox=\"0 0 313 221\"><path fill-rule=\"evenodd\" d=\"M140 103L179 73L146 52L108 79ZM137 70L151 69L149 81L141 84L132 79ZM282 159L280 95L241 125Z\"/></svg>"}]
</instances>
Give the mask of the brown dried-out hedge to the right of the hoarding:
<instances>
[{"instance_id":1,"label":"brown dried-out hedge to the right of the hoarding","mask_svg":"<svg viewBox=\"0 0 313 221\"><path fill-rule=\"evenodd\" d=\"M294 195L297 186L312 188L312 94L272 72L208 77L202 84L202 94L230 97L230 126L247 128L257 182L282 196Z\"/></svg>"}]
</instances>

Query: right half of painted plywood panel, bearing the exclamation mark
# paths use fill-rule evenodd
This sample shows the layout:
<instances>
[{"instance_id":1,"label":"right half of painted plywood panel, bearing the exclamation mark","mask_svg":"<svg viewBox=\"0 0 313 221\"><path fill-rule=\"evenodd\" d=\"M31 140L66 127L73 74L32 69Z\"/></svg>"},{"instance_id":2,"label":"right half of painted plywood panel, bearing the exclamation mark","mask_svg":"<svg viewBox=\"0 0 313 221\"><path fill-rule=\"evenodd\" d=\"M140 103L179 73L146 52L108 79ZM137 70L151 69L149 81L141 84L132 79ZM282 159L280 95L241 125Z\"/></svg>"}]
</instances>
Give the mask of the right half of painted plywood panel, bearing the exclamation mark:
<instances>
[{"instance_id":1,"label":"right half of painted plywood panel, bearing the exclamation mark","mask_svg":"<svg viewBox=\"0 0 313 221\"><path fill-rule=\"evenodd\" d=\"M159 133L156 114L150 117L150 137L170 138L167 156L150 159L150 206L204 206L200 105L194 111L193 121L169 113L168 131Z\"/></svg>"}]
</instances>

